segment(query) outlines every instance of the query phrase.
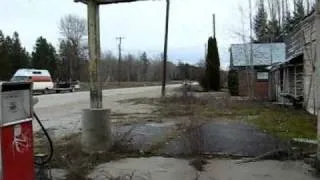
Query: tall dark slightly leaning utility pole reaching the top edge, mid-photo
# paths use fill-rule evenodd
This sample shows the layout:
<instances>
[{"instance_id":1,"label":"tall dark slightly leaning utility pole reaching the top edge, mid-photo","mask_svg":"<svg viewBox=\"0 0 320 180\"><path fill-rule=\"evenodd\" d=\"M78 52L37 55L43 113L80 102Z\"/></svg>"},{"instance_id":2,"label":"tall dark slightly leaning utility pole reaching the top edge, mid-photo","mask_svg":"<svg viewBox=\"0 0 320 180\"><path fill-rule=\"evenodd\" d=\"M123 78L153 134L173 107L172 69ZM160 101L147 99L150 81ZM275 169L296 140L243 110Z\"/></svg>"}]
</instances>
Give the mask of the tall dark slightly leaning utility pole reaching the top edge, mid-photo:
<instances>
[{"instance_id":1,"label":"tall dark slightly leaning utility pole reaching the top edge, mid-photo","mask_svg":"<svg viewBox=\"0 0 320 180\"><path fill-rule=\"evenodd\" d=\"M164 36L164 50L163 50L163 73L162 73L162 89L161 89L162 97L166 96L169 12L170 12L170 0L167 0L166 27L165 27L165 36Z\"/></svg>"}]
</instances>

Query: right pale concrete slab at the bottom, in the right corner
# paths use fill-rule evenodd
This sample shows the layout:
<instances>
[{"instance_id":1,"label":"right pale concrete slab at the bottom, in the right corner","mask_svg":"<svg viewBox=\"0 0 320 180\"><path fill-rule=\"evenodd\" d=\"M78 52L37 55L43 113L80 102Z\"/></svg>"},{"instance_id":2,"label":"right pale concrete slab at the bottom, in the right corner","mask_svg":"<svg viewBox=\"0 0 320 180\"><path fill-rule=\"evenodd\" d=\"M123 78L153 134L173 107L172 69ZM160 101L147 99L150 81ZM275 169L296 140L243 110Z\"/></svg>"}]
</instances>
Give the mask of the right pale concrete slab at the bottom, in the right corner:
<instances>
[{"instance_id":1,"label":"right pale concrete slab at the bottom, in the right corner","mask_svg":"<svg viewBox=\"0 0 320 180\"><path fill-rule=\"evenodd\" d=\"M234 160L211 160L202 175L214 180L316 180L312 168L300 161L259 161L236 164Z\"/></svg>"}]
</instances>

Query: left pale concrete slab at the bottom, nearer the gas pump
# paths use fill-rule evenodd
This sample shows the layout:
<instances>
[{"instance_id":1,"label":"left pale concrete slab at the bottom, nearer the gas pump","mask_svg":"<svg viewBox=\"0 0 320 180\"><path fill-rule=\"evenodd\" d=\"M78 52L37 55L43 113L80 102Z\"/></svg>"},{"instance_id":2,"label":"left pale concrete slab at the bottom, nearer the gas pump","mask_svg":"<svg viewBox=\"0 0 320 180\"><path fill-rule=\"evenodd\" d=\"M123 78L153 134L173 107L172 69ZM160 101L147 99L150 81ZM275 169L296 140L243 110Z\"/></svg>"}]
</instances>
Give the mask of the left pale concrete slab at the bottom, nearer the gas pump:
<instances>
[{"instance_id":1,"label":"left pale concrete slab at the bottom, nearer the gas pump","mask_svg":"<svg viewBox=\"0 0 320 180\"><path fill-rule=\"evenodd\" d=\"M193 180L196 171L189 166L187 160L162 157L129 158L99 165L89 174L88 178L107 180L117 177L126 179L130 176L132 180Z\"/></svg>"}]
</instances>

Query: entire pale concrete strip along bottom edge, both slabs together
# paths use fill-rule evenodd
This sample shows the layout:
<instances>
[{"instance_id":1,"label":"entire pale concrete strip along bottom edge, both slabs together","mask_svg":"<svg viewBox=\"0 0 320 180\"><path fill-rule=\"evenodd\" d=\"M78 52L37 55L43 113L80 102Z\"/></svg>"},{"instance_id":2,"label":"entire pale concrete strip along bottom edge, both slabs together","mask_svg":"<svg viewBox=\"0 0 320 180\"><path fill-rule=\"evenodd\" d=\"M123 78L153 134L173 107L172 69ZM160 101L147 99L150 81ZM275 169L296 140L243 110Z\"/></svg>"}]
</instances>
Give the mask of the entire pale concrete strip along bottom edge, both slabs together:
<instances>
[{"instance_id":1,"label":"entire pale concrete strip along bottom edge, both slabs together","mask_svg":"<svg viewBox=\"0 0 320 180\"><path fill-rule=\"evenodd\" d=\"M208 160L198 172L188 160L151 157L128 158L97 166L88 176L95 180L122 177L133 180L316 180L303 162L261 161L236 164L234 160Z\"/></svg>"}]
</instances>

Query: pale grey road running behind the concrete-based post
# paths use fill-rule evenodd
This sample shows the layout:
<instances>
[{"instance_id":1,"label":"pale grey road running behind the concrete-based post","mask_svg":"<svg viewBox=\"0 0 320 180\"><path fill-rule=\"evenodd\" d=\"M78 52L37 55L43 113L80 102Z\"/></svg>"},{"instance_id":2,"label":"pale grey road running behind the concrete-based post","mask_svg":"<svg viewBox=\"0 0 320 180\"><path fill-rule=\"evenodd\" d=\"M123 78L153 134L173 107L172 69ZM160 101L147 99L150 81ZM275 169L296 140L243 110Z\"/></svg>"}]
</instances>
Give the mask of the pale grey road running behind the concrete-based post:
<instances>
[{"instance_id":1,"label":"pale grey road running behind the concrete-based post","mask_svg":"<svg viewBox=\"0 0 320 180\"><path fill-rule=\"evenodd\" d=\"M179 84L168 85L167 92L171 93L173 89L179 86ZM149 113L150 107L147 105L120 104L119 101L142 97L159 97L160 95L161 86L104 90L103 107L110 109L113 113ZM35 105L35 111L51 135L62 137L81 130L82 110L90 106L89 92L49 94L37 97L39 102ZM34 124L34 130L39 130L36 122Z\"/></svg>"}]
</instances>

